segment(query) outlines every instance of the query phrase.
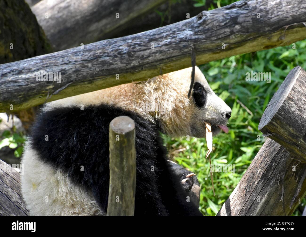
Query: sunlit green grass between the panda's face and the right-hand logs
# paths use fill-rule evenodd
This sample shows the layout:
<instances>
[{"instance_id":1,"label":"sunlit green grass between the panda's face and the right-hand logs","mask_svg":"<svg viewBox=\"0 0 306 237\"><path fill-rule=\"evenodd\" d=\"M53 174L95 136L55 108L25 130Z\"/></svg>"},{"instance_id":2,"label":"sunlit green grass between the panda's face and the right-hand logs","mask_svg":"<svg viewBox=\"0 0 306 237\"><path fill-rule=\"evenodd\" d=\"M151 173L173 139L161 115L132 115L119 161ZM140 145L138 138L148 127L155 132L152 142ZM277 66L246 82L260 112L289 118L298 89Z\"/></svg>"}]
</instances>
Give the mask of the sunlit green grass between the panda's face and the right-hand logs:
<instances>
[{"instance_id":1,"label":"sunlit green grass between the panda's face and the right-hand logs","mask_svg":"<svg viewBox=\"0 0 306 237\"><path fill-rule=\"evenodd\" d=\"M190 138L188 141L166 136L164 139L170 156L181 166L196 173L201 184L200 210L204 215L218 212L263 145L264 139L258 130L259 120L289 71L297 65L306 69L305 46L306 40L303 40L296 43L296 49L292 49L292 45L278 47L200 66L211 88L232 108L228 126L230 131L214 137L211 161L215 165L235 164L235 173L214 173L214 196L209 161L205 159L206 140ZM271 72L271 83L246 81L245 73L251 70ZM303 207L305 204L303 200ZM299 214L300 210L297 209L294 215Z\"/></svg>"}]
</instances>

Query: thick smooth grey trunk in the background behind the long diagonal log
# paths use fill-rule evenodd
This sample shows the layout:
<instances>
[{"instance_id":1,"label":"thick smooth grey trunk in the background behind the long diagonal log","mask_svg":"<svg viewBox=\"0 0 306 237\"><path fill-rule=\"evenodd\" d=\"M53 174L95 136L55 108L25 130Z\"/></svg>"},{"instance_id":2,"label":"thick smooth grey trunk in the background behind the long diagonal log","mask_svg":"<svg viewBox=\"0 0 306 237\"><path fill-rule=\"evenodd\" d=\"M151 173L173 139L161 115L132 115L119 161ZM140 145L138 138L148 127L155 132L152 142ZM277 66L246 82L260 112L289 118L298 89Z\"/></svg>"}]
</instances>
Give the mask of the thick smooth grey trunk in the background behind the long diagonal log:
<instances>
[{"instance_id":1,"label":"thick smooth grey trunk in the background behind the long diagonal log","mask_svg":"<svg viewBox=\"0 0 306 237\"><path fill-rule=\"evenodd\" d=\"M125 6L127 4L125 0L99 1L98 8L94 8L97 0L91 0L91 5L86 11L83 5L80 8L82 1L73 1L73 4L69 2L72 1L43 1L32 8L39 23L46 29L48 37L52 39L54 47L58 50L69 49L81 43L132 35L186 20L207 10L213 1L207 0L205 6L201 7L194 7L192 0L142 1L141 4L132 1L129 2L128 8ZM165 3L161 4L162 2ZM47 11L50 20L46 20L44 9L50 9ZM114 18L117 12L120 13L119 19ZM97 24L98 21L101 24ZM65 24L62 24L63 22Z\"/></svg>"}]
</instances>

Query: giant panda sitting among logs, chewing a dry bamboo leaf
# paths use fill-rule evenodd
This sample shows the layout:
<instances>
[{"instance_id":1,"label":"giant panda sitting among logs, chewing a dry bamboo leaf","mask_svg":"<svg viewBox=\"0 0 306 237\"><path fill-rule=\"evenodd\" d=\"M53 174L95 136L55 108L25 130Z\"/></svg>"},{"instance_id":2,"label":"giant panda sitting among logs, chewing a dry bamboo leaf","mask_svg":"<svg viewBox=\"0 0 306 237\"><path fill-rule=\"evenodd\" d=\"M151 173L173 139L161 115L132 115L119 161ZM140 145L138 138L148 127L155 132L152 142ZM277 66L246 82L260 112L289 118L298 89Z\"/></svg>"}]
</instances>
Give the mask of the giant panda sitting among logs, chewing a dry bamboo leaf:
<instances>
[{"instance_id":1,"label":"giant panda sitting among logs, chewing a dry bamboo leaf","mask_svg":"<svg viewBox=\"0 0 306 237\"><path fill-rule=\"evenodd\" d=\"M115 117L128 116L136 129L135 215L202 215L187 201L182 185L195 176L175 172L161 133L202 138L205 122L213 135L227 133L231 109L198 67L188 98L191 72L192 68L182 69L47 103L22 157L21 189L30 214L106 215L109 124Z\"/></svg>"}]
</instances>

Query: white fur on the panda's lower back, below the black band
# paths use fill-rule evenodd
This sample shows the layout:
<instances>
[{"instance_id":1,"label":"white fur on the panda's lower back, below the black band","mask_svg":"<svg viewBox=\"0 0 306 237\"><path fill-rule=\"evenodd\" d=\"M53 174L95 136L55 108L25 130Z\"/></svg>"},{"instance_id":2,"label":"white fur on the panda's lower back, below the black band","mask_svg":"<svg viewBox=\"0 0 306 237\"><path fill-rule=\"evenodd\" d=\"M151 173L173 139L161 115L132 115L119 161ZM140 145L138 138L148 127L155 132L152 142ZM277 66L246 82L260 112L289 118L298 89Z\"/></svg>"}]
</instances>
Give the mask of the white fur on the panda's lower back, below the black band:
<instances>
[{"instance_id":1,"label":"white fur on the panda's lower back, below the black band","mask_svg":"<svg viewBox=\"0 0 306 237\"><path fill-rule=\"evenodd\" d=\"M21 191L30 215L105 215L90 192L42 162L28 143L24 147Z\"/></svg>"}]
</instances>

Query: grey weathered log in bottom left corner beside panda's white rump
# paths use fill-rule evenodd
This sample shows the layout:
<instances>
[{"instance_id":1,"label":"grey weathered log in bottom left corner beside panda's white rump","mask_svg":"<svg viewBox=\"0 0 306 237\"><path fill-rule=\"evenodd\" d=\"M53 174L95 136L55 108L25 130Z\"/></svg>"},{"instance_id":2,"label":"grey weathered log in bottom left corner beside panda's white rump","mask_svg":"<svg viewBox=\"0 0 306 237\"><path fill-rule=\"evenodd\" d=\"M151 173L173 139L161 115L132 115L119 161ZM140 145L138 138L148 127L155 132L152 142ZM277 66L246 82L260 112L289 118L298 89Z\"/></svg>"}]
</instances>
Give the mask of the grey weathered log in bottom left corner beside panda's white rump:
<instances>
[{"instance_id":1,"label":"grey weathered log in bottom left corner beside panda's white rump","mask_svg":"<svg viewBox=\"0 0 306 237\"><path fill-rule=\"evenodd\" d=\"M27 216L28 210L21 197L20 174L0 160L0 215Z\"/></svg>"}]
</instances>

